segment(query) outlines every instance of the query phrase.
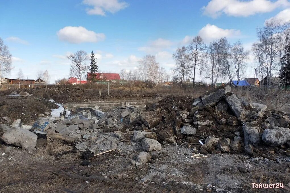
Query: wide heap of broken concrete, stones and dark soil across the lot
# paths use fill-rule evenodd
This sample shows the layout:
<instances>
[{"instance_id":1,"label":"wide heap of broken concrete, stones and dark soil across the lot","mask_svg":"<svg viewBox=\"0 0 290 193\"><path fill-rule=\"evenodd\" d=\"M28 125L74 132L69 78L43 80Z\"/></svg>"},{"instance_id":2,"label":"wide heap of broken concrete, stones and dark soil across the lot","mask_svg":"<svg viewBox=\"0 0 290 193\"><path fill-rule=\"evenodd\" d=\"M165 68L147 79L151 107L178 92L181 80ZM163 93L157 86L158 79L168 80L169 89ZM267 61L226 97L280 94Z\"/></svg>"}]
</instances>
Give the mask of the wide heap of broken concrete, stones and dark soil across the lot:
<instances>
[{"instance_id":1,"label":"wide heap of broken concrete, stones and dark soil across the lot","mask_svg":"<svg viewBox=\"0 0 290 193\"><path fill-rule=\"evenodd\" d=\"M269 155L290 153L289 114L247 102L229 86L198 98L160 97L146 109L121 106L106 113L97 108L82 113L86 119L41 117L30 131L1 125L1 139L28 151L35 150L37 141L43 143L41 132L71 137L77 150L92 153L138 146L142 152L131 160L135 165L152 160L150 154L164 145L191 146L200 154L244 152L259 157L261 149Z\"/></svg>"}]
</instances>

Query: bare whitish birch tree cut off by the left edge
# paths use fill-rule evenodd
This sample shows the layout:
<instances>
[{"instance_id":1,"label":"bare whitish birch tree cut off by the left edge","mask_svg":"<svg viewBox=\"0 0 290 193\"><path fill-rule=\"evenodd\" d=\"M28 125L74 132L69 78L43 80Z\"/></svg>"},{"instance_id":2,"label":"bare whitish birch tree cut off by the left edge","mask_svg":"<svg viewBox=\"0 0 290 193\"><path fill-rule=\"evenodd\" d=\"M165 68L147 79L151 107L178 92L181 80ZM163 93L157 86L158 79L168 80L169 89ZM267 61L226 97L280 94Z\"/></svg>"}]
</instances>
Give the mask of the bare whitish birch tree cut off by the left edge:
<instances>
[{"instance_id":1,"label":"bare whitish birch tree cut off by the left edge","mask_svg":"<svg viewBox=\"0 0 290 193\"><path fill-rule=\"evenodd\" d=\"M8 47L4 45L4 41L0 38L0 87L1 87L1 78L4 74L9 74L12 67L11 54L8 50Z\"/></svg>"}]
</instances>

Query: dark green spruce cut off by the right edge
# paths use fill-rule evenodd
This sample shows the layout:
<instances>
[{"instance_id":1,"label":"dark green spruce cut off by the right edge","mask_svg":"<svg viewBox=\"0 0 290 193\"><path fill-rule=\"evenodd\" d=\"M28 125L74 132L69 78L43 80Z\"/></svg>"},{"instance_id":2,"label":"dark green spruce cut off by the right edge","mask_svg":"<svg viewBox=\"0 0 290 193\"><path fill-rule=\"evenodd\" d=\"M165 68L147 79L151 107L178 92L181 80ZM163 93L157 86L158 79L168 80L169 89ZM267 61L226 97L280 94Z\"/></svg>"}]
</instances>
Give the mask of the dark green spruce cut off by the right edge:
<instances>
[{"instance_id":1,"label":"dark green spruce cut off by the right edge","mask_svg":"<svg viewBox=\"0 0 290 193\"><path fill-rule=\"evenodd\" d=\"M286 54L281 58L280 80L283 87L290 87L290 44Z\"/></svg>"}]
</instances>

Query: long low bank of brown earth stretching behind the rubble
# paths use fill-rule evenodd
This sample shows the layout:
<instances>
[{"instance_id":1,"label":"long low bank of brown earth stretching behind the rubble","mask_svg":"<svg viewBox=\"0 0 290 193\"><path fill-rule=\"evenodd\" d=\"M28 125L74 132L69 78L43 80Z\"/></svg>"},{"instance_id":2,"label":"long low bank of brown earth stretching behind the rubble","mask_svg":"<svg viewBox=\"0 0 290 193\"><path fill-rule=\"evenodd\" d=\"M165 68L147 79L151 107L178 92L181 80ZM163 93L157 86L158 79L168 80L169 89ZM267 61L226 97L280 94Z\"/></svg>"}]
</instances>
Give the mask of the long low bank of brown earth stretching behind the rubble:
<instances>
[{"instance_id":1,"label":"long low bank of brown earth stretching behind the rubble","mask_svg":"<svg viewBox=\"0 0 290 193\"><path fill-rule=\"evenodd\" d=\"M141 89L141 88L140 88ZM102 95L99 95L99 90L96 89L80 89L74 88L30 88L30 89L8 89L0 92L0 95L9 95L12 91L19 93L25 91L39 96L45 99L53 99L58 103L70 103L70 102L85 102L85 101L102 101L102 100L122 100L122 99L152 99L156 98L157 94L151 91L133 90L128 91L126 89L110 89L110 96L108 96L107 89L101 89Z\"/></svg>"}]
</instances>

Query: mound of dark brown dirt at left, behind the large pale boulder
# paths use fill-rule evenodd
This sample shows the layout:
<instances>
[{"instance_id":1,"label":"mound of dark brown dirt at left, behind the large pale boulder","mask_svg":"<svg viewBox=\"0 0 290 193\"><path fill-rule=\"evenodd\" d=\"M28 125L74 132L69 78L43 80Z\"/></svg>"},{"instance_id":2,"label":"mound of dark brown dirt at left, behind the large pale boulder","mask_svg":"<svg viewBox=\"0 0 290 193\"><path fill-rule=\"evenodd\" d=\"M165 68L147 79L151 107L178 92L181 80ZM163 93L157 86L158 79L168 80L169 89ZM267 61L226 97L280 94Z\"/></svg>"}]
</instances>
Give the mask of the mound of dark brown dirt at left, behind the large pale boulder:
<instances>
[{"instance_id":1,"label":"mound of dark brown dirt at left, behind the large pale boulder","mask_svg":"<svg viewBox=\"0 0 290 193\"><path fill-rule=\"evenodd\" d=\"M37 120L39 114L51 112L58 106L41 97L9 97L0 96L0 124L9 124L21 119L22 124L29 124Z\"/></svg>"}]
</instances>

